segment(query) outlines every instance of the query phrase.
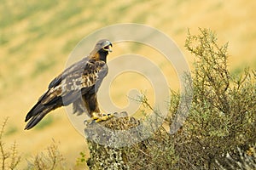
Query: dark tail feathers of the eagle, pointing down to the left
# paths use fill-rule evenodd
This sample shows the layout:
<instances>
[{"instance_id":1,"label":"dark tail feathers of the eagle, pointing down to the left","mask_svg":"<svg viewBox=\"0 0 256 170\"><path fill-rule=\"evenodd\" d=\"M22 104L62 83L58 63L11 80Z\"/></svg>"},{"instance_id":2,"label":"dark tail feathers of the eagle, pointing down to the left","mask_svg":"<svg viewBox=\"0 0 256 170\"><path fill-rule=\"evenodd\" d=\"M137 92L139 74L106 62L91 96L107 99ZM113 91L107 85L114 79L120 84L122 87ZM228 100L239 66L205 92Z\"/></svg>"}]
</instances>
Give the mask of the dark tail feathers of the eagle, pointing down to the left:
<instances>
[{"instance_id":1,"label":"dark tail feathers of the eagle, pointing down to the left","mask_svg":"<svg viewBox=\"0 0 256 170\"><path fill-rule=\"evenodd\" d=\"M29 111L26 115L25 122L27 122L29 119L30 121L26 124L25 130L31 129L35 125L40 122L43 117L49 113L49 111L53 110L52 105L43 105L40 101L36 105L32 107L32 110Z\"/></svg>"}]
</instances>

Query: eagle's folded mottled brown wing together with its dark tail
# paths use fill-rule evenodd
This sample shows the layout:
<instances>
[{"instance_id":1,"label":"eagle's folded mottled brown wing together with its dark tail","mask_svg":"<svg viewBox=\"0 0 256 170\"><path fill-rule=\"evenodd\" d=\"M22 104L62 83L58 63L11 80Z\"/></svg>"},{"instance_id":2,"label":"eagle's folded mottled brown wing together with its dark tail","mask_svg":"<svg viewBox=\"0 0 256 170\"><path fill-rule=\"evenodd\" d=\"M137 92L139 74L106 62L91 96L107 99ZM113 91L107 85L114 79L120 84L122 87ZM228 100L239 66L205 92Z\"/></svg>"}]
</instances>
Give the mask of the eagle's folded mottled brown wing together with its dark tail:
<instances>
[{"instance_id":1,"label":"eagle's folded mottled brown wing together with its dark tail","mask_svg":"<svg viewBox=\"0 0 256 170\"><path fill-rule=\"evenodd\" d=\"M25 129L34 127L41 119L62 105L69 105L80 99L81 94L88 93L91 88L98 87L98 82L106 76L108 67L104 61L89 61L84 58L71 65L49 83L49 88L26 115L25 122L31 119ZM103 77L102 77L103 73Z\"/></svg>"}]
</instances>

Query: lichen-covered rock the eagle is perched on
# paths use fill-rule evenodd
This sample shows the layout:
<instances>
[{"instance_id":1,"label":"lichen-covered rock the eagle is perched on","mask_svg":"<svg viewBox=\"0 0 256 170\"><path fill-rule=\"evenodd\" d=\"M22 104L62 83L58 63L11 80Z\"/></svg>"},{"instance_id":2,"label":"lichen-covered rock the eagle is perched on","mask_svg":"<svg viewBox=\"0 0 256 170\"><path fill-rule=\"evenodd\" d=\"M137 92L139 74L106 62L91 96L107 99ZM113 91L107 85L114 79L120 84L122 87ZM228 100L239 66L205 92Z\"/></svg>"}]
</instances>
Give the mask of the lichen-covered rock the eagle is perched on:
<instances>
[{"instance_id":1,"label":"lichen-covered rock the eagle is perched on","mask_svg":"<svg viewBox=\"0 0 256 170\"><path fill-rule=\"evenodd\" d=\"M122 140L116 138L115 132L137 127L138 124L138 120L126 116L113 117L105 122L88 125L84 129L90 149L88 167L90 169L129 169L125 148L114 147L114 144ZM126 137L123 136L123 138Z\"/></svg>"}]
</instances>

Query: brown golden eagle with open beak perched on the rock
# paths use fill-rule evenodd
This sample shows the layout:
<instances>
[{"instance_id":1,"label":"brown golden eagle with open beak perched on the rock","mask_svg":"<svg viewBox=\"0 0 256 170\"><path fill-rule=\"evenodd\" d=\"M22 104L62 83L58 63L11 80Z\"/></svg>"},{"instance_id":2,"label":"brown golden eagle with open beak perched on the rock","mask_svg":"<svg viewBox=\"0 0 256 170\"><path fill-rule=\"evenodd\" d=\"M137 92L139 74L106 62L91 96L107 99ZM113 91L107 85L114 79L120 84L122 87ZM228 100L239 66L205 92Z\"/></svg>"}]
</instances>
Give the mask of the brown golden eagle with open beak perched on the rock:
<instances>
[{"instance_id":1,"label":"brown golden eagle with open beak perched on the rock","mask_svg":"<svg viewBox=\"0 0 256 170\"><path fill-rule=\"evenodd\" d=\"M107 120L111 114L102 115L96 93L102 80L108 74L106 58L111 52L112 43L107 39L96 43L90 54L79 62L69 66L49 83L48 90L38 99L26 115L25 129L34 127L42 118L58 107L73 104L73 112L81 114L85 110L91 121Z\"/></svg>"}]
</instances>

